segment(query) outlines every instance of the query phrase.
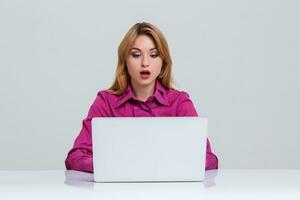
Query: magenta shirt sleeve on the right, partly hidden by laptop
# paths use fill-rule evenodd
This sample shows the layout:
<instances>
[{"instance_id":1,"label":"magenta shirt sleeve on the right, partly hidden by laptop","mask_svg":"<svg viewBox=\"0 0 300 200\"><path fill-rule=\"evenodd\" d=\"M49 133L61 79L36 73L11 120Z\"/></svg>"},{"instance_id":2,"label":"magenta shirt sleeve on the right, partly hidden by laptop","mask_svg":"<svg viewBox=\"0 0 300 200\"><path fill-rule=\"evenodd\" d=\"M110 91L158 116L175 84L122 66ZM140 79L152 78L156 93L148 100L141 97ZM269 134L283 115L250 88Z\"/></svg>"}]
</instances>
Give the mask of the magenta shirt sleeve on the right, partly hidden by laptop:
<instances>
[{"instance_id":1,"label":"magenta shirt sleeve on the right, partly hidden by laptop","mask_svg":"<svg viewBox=\"0 0 300 200\"><path fill-rule=\"evenodd\" d=\"M177 108L177 116L198 116L197 111L186 92L181 92L180 103ZM206 141L206 163L205 170L218 169L218 158L212 152L210 142Z\"/></svg>"}]
</instances>

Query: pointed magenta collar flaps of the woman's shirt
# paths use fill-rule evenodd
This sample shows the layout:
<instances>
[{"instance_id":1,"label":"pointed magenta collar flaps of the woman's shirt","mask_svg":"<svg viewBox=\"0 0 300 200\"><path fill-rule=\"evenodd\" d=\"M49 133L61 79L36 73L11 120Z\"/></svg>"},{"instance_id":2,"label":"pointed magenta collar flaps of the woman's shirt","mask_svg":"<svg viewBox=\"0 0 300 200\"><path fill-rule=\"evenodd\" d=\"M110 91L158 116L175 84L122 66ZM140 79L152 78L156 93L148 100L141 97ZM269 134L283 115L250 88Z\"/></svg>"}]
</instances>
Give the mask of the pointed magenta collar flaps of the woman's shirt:
<instances>
[{"instance_id":1,"label":"pointed magenta collar flaps of the woman's shirt","mask_svg":"<svg viewBox=\"0 0 300 200\"><path fill-rule=\"evenodd\" d=\"M159 80L156 80L155 81L155 89L154 89L154 93L152 96L155 97L156 100L160 104L168 106L169 101L166 97L166 92L167 92L167 89L160 83ZM116 104L116 108L121 106L122 104L124 104L126 101L128 101L130 99L137 100L133 94L133 89L132 89L131 83L130 83L130 81L128 81L128 84L127 84L127 87L126 87L124 93L121 96L119 96L119 99Z\"/></svg>"}]
</instances>

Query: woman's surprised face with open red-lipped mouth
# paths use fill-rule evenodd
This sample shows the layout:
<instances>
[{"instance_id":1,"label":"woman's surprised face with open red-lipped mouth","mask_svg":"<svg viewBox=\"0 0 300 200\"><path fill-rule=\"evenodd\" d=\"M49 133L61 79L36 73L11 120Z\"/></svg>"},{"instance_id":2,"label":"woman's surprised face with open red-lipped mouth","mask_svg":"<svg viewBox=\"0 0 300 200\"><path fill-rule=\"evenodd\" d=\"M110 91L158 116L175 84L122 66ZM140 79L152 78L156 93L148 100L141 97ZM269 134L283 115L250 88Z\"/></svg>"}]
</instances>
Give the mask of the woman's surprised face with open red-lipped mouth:
<instances>
[{"instance_id":1,"label":"woman's surprised face with open red-lipped mouth","mask_svg":"<svg viewBox=\"0 0 300 200\"><path fill-rule=\"evenodd\" d=\"M126 64L131 83L137 87L143 87L155 84L163 61L152 39L146 35L140 35L129 51Z\"/></svg>"}]
</instances>

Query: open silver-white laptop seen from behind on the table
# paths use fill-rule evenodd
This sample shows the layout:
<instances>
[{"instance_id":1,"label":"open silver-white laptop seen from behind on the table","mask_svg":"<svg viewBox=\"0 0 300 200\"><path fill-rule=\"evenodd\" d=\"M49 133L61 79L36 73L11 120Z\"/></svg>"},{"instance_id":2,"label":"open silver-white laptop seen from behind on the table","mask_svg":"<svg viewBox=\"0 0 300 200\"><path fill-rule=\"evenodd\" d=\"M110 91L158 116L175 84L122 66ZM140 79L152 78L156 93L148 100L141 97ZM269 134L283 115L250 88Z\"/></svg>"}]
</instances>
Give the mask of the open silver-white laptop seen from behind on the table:
<instances>
[{"instance_id":1,"label":"open silver-white laptop seen from behind on the table","mask_svg":"<svg viewBox=\"0 0 300 200\"><path fill-rule=\"evenodd\" d=\"M93 118L94 181L203 181L206 138L207 118Z\"/></svg>"}]
</instances>

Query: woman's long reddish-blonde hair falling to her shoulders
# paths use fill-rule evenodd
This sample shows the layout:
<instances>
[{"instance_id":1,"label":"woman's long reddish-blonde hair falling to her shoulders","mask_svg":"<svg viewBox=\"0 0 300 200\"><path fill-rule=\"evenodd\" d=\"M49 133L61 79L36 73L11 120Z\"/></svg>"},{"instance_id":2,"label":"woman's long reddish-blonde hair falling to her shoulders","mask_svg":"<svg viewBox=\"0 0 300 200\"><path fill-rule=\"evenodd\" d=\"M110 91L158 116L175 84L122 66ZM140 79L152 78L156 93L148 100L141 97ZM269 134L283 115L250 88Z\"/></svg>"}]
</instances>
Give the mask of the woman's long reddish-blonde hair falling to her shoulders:
<instances>
[{"instance_id":1,"label":"woman's long reddish-blonde hair falling to her shoulders","mask_svg":"<svg viewBox=\"0 0 300 200\"><path fill-rule=\"evenodd\" d=\"M173 88L172 59L167 40L162 32L154 25L147 22L141 22L136 23L129 29L119 45L115 80L110 88L107 89L108 92L121 95L125 91L128 81L130 81L130 76L126 66L126 57L129 55L130 48L132 47L134 41L140 35L146 35L150 37L155 43L158 54L163 60L161 73L157 78L164 87Z\"/></svg>"}]
</instances>

